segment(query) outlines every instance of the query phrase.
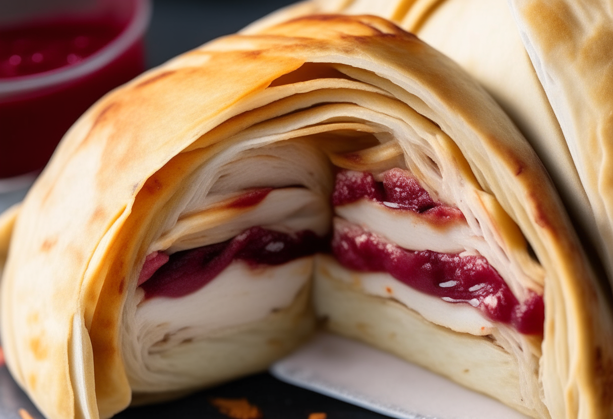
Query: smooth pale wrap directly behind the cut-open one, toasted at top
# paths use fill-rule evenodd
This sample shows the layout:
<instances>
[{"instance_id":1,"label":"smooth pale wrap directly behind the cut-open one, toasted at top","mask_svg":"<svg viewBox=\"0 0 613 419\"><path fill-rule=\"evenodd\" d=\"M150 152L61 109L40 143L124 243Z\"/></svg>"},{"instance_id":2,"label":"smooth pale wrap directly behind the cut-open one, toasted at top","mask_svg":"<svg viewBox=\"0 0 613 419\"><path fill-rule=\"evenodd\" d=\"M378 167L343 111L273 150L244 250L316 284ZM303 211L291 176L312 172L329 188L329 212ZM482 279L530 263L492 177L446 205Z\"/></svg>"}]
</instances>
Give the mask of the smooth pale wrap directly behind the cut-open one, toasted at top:
<instances>
[{"instance_id":1,"label":"smooth pale wrap directly behind the cut-open one, toasted at top","mask_svg":"<svg viewBox=\"0 0 613 419\"><path fill-rule=\"evenodd\" d=\"M567 145L565 137L568 135L563 134L560 127L562 124L558 122L552 104L549 103L549 91L555 92L559 85L557 82L552 83L551 78L546 80L546 74L550 74L549 63L541 66L538 64L538 58L537 75L531 62L531 58L533 61L535 59L535 53L531 52L531 57L528 56L527 47L524 46L526 43L530 50L531 41L527 40L526 35L522 40L522 25L518 27L514 12L509 7L515 8L514 3L507 0L310 0L273 12L247 26L243 32L254 33L287 18L310 13L368 13L389 19L405 31L416 34L460 64L503 108L546 167L571 216L571 221L582 235L584 245L598 249L601 259L606 261L613 252L602 246L602 216L598 210L592 211L593 198L588 199L586 193L590 186L585 185L585 175L579 176L579 167L585 163L576 162L574 146ZM526 5L530 4L533 22L531 25L537 25L543 32L543 37L547 37L551 42L563 39L549 29L557 25L558 17L563 13L560 10L565 10L567 3L571 4L571 9L574 8L573 2L568 1L547 7L539 6L539 2L525 2ZM593 2L595 6L590 8L604 8L604 3ZM524 7L527 8L528 6ZM576 6L576 9L578 13L581 7ZM557 11L554 13L552 10ZM593 10L592 15L596 17L598 13L600 11ZM600 18L594 19L604 19L606 15L605 12ZM559 20L567 21L564 17ZM582 34L579 28L584 28L585 32L590 31L591 21L585 21L582 25L566 25L577 28L571 29L576 32L577 38L584 37L585 43L590 42L590 38ZM597 39L601 39L600 36L595 37L592 42L600 42ZM603 59L608 56L602 55ZM560 59L558 55L552 56L551 59L555 62L554 66L559 65L568 73L574 72L573 67L566 66L568 59ZM585 66L587 70L584 77L587 81L593 81L591 68ZM543 82L546 88L547 83L552 83L547 93L541 85L543 80L546 80ZM578 85L572 85L571 88L585 91L579 89ZM573 94L573 99L577 96L578 94ZM574 106L577 112L583 108L579 102L574 102ZM590 158L589 152L584 158ZM599 263L597 258L593 259L593 262ZM609 277L613 278L613 265L611 262L605 264Z\"/></svg>"}]
</instances>

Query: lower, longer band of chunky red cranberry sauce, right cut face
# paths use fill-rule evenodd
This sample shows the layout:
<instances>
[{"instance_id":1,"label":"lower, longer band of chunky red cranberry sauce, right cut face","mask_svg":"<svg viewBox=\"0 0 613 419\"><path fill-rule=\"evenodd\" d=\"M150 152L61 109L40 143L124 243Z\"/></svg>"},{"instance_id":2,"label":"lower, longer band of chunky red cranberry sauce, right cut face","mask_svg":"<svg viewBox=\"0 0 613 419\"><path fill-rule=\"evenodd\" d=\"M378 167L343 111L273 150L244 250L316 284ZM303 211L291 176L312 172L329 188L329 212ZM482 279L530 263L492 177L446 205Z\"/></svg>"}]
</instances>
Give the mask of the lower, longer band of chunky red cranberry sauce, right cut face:
<instances>
[{"instance_id":1,"label":"lower, longer band of chunky red cranberry sauce, right cut face","mask_svg":"<svg viewBox=\"0 0 613 419\"><path fill-rule=\"evenodd\" d=\"M481 255L409 251L348 222L335 225L332 252L348 269L387 272L428 295L471 304L489 319L510 324L520 333L543 333L543 298L534 293L519 303Z\"/></svg>"}]
</instances>

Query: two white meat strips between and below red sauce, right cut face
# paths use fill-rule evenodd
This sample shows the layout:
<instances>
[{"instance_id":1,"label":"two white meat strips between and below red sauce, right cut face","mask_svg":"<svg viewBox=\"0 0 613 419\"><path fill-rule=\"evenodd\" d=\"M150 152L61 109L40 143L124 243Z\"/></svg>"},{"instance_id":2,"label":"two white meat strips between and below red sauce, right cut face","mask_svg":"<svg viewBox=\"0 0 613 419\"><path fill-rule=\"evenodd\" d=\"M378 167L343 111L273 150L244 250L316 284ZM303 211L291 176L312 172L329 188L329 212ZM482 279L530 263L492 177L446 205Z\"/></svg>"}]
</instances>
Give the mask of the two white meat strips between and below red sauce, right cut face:
<instances>
[{"instance_id":1,"label":"two white meat strips between and below red sauce, right cut face","mask_svg":"<svg viewBox=\"0 0 613 419\"><path fill-rule=\"evenodd\" d=\"M498 258L498 254L492 252L484 238L476 235L465 221L438 225L430 217L410 210L395 210L366 198L336 206L334 210L341 217L336 219L335 228L349 225L348 222L356 224L410 251L482 255L492 266L498 268L507 284L517 284L513 271L509 269L511 260ZM490 262L492 260L494 263ZM357 281L360 289L370 295L394 298L430 322L454 331L481 336L491 334L497 327L478 310L478 300L473 303L471 300L427 295L403 284L388 273L359 273L340 269L335 271L335 276L348 283L356 284ZM439 284L443 288L454 285L455 281ZM518 299L522 301L521 295Z\"/></svg>"}]
</instances>

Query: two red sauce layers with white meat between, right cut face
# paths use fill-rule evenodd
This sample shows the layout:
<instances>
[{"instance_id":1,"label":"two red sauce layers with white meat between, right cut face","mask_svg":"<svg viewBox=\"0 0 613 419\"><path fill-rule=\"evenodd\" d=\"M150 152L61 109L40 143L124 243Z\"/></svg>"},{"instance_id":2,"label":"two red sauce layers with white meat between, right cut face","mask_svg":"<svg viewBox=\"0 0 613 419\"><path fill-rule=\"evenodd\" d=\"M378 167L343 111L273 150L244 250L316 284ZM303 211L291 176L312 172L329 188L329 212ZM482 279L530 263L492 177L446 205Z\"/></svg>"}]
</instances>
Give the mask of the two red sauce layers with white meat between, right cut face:
<instances>
[{"instance_id":1,"label":"two red sauce layers with white meat between, right cut face","mask_svg":"<svg viewBox=\"0 0 613 419\"><path fill-rule=\"evenodd\" d=\"M337 175L332 202L340 217L334 222L332 251L342 266L389 274L394 281L372 281L401 302L405 298L394 289L406 286L471 306L520 333L543 333L543 297L527 290L520 300L483 255L468 251L474 238L458 208L433 200L406 170L388 170L381 178L376 181L368 172ZM444 325L466 330L453 319ZM473 333L490 327L483 322Z\"/></svg>"}]
</instances>

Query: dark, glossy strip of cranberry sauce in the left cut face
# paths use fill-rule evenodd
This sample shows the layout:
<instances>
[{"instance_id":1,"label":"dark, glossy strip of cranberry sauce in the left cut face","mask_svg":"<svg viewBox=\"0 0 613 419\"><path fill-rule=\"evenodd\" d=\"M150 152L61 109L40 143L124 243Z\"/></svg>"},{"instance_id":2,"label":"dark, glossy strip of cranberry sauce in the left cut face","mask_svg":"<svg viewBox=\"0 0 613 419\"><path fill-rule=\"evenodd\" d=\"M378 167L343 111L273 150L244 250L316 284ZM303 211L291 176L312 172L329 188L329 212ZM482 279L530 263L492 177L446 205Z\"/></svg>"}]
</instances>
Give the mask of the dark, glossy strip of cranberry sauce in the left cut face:
<instances>
[{"instance_id":1,"label":"dark, glossy strip of cranberry sauce in the left cut face","mask_svg":"<svg viewBox=\"0 0 613 419\"><path fill-rule=\"evenodd\" d=\"M329 237L319 237L311 230L286 234L251 227L223 243L189 249L170 255L169 260L156 266L159 253L151 254L143 265L140 282L145 298L155 296L181 297L196 292L211 282L235 259L250 266L281 265L299 257L329 249ZM167 257L167 256L166 256ZM144 273L144 274L143 274Z\"/></svg>"}]
</instances>

